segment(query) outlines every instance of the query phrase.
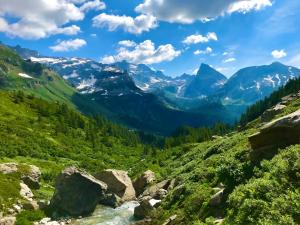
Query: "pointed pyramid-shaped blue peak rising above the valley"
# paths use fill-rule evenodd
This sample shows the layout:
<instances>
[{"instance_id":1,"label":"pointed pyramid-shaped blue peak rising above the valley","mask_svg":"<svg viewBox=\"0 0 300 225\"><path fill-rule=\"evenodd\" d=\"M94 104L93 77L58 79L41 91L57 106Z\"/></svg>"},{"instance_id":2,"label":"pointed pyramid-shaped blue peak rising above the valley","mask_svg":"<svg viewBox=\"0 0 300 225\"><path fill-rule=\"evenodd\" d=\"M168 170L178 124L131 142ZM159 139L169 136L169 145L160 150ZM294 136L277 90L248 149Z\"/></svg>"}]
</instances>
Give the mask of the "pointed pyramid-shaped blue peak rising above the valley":
<instances>
[{"instance_id":1,"label":"pointed pyramid-shaped blue peak rising above the valley","mask_svg":"<svg viewBox=\"0 0 300 225\"><path fill-rule=\"evenodd\" d=\"M227 78L207 64L201 64L197 75L185 87L184 96L189 98L206 97L216 93Z\"/></svg>"}]
</instances>

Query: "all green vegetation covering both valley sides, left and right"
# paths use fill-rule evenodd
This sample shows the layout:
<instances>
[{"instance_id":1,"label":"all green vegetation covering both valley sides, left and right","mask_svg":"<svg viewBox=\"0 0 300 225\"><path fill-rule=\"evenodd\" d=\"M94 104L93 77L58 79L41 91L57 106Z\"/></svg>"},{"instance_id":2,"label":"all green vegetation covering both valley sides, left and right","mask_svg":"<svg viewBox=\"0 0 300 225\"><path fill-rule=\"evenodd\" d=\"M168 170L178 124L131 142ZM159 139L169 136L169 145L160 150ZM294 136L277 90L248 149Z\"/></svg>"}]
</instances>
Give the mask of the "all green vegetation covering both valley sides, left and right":
<instances>
[{"instance_id":1,"label":"all green vegetation covering both valley sides, left and right","mask_svg":"<svg viewBox=\"0 0 300 225\"><path fill-rule=\"evenodd\" d=\"M22 173L25 164L38 166L42 180L34 191L37 199L50 199L55 177L69 165L89 172L124 169L132 177L151 169L158 180L176 178L180 183L153 213L153 224L174 214L176 224L186 225L210 225L216 218L224 218L225 225L300 224L300 145L261 160L253 158L248 142L261 126L258 117L281 97L299 91L300 79L249 107L241 119L241 125L247 123L242 131L224 124L182 127L164 140L101 116L83 115L76 106L89 111L91 102L77 96L73 105L74 90L55 73L1 46L0 53L0 162L19 163ZM33 78L18 76L24 71ZM296 99L277 116L299 107ZM4 213L20 199L20 172L0 174ZM224 196L212 206L216 187L225 187ZM16 224L29 225L44 216L41 211L23 211Z\"/></svg>"}]
</instances>

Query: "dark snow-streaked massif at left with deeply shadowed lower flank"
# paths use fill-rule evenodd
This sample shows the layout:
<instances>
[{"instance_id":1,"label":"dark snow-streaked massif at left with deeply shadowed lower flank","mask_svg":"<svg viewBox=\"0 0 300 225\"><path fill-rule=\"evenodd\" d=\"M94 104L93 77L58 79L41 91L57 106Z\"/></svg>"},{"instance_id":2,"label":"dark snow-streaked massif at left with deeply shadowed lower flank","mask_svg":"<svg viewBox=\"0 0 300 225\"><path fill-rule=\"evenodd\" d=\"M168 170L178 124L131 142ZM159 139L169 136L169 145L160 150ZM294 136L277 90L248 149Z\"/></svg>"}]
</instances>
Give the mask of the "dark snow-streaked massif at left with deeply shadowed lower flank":
<instances>
[{"instance_id":1,"label":"dark snow-streaked massif at left with deeply shadowed lower flank","mask_svg":"<svg viewBox=\"0 0 300 225\"><path fill-rule=\"evenodd\" d=\"M233 121L221 104L217 104L218 107L215 103L211 107L206 104L203 109L186 111L175 104L168 104L162 95L140 89L133 78L149 74L133 74L133 65L126 62L117 66L81 58L32 57L31 60L43 63L60 74L80 94L104 108L105 112L102 110L101 113L104 112L107 118L131 128L166 135L182 125L209 126L218 121ZM145 65L137 68L135 71L153 72ZM165 77L160 72L155 74L150 80L159 77L163 80Z\"/></svg>"}]
</instances>

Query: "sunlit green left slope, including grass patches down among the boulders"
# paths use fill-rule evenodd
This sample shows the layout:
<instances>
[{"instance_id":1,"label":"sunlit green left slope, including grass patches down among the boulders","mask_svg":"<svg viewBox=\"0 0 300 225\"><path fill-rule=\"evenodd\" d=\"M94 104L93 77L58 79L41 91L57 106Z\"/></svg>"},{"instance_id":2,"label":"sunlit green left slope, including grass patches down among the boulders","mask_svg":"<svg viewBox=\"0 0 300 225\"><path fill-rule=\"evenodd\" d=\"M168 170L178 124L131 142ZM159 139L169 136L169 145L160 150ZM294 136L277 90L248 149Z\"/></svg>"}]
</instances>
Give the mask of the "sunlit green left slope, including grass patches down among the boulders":
<instances>
[{"instance_id":1,"label":"sunlit green left slope, including grass patches down among the boulders","mask_svg":"<svg viewBox=\"0 0 300 225\"><path fill-rule=\"evenodd\" d=\"M104 122L90 132L90 119L70 109L84 121L84 128L72 127L65 114L59 114L56 103L32 97L15 101L15 94L0 91L0 162L33 164L42 170L42 188L35 192L40 199L49 199L54 191L57 174L69 165L77 165L90 172L104 168L129 170L137 164L143 147L136 137L121 127ZM46 114L41 114L46 109ZM44 112L44 113L45 113ZM47 112L49 114L47 114ZM66 114L68 115L68 114ZM75 117L76 118L76 117ZM57 126L64 124L63 131ZM115 133L113 129L124 133ZM123 128L124 129L124 128ZM93 141L90 140L93 135ZM128 135L128 137L126 136ZM0 211L6 212L19 198L19 177L0 175ZM9 201L8 201L9 199Z\"/></svg>"}]
</instances>

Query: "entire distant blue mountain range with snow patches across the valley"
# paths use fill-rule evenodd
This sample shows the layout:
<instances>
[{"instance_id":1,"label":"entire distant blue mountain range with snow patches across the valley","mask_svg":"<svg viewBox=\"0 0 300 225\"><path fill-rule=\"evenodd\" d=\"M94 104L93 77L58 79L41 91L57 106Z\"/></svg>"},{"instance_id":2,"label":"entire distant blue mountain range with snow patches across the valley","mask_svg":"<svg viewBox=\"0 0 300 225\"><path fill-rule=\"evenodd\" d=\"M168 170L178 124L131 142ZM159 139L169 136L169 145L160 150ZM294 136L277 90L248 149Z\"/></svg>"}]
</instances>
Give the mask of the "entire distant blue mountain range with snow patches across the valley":
<instances>
[{"instance_id":1,"label":"entire distant blue mountain range with snow patches across the valley","mask_svg":"<svg viewBox=\"0 0 300 225\"><path fill-rule=\"evenodd\" d=\"M164 134L180 125L233 122L248 105L300 76L299 69L276 62L241 69L229 79L206 64L196 75L172 78L144 64L108 65L83 58L44 57L20 46L13 50L57 72L78 93L104 108L109 118Z\"/></svg>"}]
</instances>

